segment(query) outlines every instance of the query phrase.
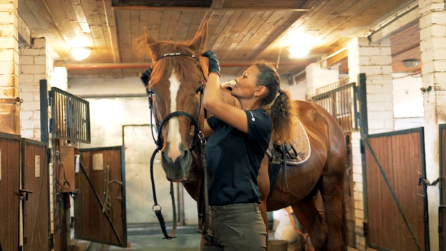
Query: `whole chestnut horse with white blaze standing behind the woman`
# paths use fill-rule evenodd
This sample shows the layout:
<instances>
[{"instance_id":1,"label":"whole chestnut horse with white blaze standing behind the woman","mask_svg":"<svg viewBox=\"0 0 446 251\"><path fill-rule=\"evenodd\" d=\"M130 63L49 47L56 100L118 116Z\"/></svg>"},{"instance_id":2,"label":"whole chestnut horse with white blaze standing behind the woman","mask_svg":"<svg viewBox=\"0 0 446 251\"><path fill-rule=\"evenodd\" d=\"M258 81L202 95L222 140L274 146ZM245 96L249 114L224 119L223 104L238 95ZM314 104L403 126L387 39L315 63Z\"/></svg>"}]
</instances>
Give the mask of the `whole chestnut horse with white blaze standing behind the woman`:
<instances>
[{"instance_id":1,"label":"whole chestnut horse with white blaze standing behind the woman","mask_svg":"<svg viewBox=\"0 0 446 251\"><path fill-rule=\"evenodd\" d=\"M145 33L153 67L147 88L153 94L162 167L169 181L183 183L189 195L199 202L201 153L193 145L205 119L201 91L208 75L208 61L200 55L205 50L207 22L192 40L185 42L156 40L147 30ZM230 90L222 89L222 93L226 102L238 105ZM344 131L322 107L303 100L294 102L308 135L311 154L305 162L279 170L270 198L271 159L265 155L258 176L261 215L268 229L267 211L291 206L315 250L346 250ZM314 204L317 191L323 199L323 215Z\"/></svg>"}]
</instances>

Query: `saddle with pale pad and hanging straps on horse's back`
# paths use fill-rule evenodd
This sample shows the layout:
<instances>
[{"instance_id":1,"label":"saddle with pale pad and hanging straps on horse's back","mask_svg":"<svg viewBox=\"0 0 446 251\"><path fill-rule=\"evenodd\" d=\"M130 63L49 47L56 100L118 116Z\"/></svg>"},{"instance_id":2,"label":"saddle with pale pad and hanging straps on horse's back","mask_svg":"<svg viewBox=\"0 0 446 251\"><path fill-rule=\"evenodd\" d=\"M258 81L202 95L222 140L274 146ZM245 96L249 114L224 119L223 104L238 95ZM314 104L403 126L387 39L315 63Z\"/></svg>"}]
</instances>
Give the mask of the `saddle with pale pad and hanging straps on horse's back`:
<instances>
[{"instance_id":1,"label":"saddle with pale pad and hanging straps on horse's back","mask_svg":"<svg viewBox=\"0 0 446 251\"><path fill-rule=\"evenodd\" d=\"M280 167L284 167L284 180L286 189L288 188L288 181L286 180L286 165L299 165L306 162L311 154L311 146L309 138L302 123L298 121L298 130L296 138L292 144L277 145L270 142L270 146L266 151L266 154L271 159L270 166L268 167L268 175L270 177L270 193L268 199L274 192L277 178L279 177Z\"/></svg>"}]
</instances>

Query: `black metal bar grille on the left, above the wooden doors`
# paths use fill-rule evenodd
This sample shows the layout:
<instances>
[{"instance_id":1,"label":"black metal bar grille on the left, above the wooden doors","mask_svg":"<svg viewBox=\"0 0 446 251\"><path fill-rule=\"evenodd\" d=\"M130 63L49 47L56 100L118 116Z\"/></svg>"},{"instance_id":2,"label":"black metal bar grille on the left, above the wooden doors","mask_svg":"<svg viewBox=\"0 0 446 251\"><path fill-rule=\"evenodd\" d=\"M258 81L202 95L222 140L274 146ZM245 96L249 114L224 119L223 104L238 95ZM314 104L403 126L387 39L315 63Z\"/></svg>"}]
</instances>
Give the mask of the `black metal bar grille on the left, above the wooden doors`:
<instances>
[{"instance_id":1,"label":"black metal bar grille on the left, above the wooden doors","mask_svg":"<svg viewBox=\"0 0 446 251\"><path fill-rule=\"evenodd\" d=\"M89 102L56 87L51 97L53 139L90 143Z\"/></svg>"}]
</instances>

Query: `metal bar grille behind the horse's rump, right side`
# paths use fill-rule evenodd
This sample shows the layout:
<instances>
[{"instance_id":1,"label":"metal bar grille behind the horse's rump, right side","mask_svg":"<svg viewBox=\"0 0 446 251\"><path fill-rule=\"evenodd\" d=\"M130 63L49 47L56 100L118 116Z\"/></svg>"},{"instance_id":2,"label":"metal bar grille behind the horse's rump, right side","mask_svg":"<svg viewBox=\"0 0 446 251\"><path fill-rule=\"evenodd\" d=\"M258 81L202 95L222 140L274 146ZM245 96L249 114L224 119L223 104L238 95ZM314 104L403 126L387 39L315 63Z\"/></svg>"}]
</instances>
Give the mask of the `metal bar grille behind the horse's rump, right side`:
<instances>
[{"instance_id":1,"label":"metal bar grille behind the horse's rump, right side","mask_svg":"<svg viewBox=\"0 0 446 251\"><path fill-rule=\"evenodd\" d=\"M348 83L346 77L316 89L316 93L312 101L330 112L344 132L357 130L356 83Z\"/></svg>"}]
</instances>

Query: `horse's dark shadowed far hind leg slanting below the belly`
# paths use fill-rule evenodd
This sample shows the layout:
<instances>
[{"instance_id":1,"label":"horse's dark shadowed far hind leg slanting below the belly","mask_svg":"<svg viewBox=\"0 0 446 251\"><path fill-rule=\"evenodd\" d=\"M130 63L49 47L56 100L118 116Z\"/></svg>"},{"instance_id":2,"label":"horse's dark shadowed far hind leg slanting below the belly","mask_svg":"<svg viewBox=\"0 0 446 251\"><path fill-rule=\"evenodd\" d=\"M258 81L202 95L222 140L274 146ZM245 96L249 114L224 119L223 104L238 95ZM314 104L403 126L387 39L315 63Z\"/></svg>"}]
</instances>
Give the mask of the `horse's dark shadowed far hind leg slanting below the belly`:
<instances>
[{"instance_id":1,"label":"horse's dark shadowed far hind leg slanting below the belly","mask_svg":"<svg viewBox=\"0 0 446 251\"><path fill-rule=\"evenodd\" d=\"M296 218L305 227L311 238L315 250L327 250L327 228L319 214L314 199L308 195L300 200L298 204L291 206Z\"/></svg>"}]
</instances>

